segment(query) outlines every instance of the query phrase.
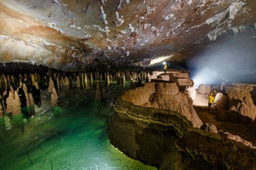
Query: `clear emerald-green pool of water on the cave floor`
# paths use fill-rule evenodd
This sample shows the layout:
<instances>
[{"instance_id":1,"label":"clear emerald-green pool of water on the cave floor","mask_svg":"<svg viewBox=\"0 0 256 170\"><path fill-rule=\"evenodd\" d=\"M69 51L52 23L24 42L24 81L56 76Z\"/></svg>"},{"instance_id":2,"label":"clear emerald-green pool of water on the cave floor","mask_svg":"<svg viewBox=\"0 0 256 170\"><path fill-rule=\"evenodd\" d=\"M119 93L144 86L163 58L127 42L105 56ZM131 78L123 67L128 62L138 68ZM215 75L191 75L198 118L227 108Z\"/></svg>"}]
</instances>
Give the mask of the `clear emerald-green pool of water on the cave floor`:
<instances>
[{"instance_id":1,"label":"clear emerald-green pool of water on the cave floor","mask_svg":"<svg viewBox=\"0 0 256 170\"><path fill-rule=\"evenodd\" d=\"M110 145L107 124L114 110L90 98L48 109L28 123L0 118L0 169L156 169L132 160Z\"/></svg>"}]
</instances>

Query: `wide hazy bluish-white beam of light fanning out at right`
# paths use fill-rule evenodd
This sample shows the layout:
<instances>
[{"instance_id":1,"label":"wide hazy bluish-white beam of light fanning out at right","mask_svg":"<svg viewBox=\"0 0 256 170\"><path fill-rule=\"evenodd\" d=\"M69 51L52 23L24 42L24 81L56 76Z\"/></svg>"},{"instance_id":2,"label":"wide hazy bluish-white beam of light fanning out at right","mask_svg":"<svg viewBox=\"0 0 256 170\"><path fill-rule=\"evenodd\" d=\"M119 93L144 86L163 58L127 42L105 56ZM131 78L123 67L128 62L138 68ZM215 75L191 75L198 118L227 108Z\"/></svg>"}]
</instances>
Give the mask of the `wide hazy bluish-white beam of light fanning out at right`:
<instances>
[{"instance_id":1,"label":"wide hazy bluish-white beam of light fanning out at right","mask_svg":"<svg viewBox=\"0 0 256 170\"><path fill-rule=\"evenodd\" d=\"M256 83L255 32L227 35L207 44L187 61L194 87L221 82Z\"/></svg>"}]
</instances>

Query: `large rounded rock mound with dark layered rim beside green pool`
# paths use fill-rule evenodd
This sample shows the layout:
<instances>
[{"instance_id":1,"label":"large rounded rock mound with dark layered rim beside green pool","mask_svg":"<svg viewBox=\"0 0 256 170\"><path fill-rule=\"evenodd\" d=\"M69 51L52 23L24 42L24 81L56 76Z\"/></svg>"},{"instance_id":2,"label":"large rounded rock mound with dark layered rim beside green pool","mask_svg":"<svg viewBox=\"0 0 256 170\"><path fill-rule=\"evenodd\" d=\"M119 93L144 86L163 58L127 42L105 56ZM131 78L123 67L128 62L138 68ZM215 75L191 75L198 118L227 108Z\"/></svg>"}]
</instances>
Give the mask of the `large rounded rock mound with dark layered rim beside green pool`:
<instances>
[{"instance_id":1,"label":"large rounded rock mound with dark layered rim beside green pool","mask_svg":"<svg viewBox=\"0 0 256 170\"><path fill-rule=\"evenodd\" d=\"M217 134L211 124L202 126L184 89L169 79L126 91L108 125L110 142L159 169L256 168L256 150Z\"/></svg>"}]
</instances>

